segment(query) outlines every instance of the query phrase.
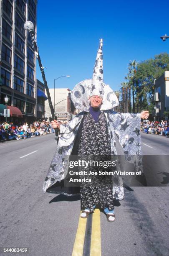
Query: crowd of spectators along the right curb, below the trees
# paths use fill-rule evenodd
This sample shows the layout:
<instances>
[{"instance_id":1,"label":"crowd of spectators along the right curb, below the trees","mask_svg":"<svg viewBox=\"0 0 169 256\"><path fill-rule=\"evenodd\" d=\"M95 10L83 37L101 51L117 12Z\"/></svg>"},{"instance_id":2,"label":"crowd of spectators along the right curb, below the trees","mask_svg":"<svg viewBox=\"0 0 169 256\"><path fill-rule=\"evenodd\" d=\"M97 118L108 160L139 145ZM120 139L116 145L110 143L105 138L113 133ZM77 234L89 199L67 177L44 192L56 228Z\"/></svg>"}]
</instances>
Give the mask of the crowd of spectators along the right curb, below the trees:
<instances>
[{"instance_id":1,"label":"crowd of spectators along the right curb, below the trees","mask_svg":"<svg viewBox=\"0 0 169 256\"><path fill-rule=\"evenodd\" d=\"M169 137L169 121L149 121L141 122L141 131L148 134L157 134Z\"/></svg>"}]
</instances>

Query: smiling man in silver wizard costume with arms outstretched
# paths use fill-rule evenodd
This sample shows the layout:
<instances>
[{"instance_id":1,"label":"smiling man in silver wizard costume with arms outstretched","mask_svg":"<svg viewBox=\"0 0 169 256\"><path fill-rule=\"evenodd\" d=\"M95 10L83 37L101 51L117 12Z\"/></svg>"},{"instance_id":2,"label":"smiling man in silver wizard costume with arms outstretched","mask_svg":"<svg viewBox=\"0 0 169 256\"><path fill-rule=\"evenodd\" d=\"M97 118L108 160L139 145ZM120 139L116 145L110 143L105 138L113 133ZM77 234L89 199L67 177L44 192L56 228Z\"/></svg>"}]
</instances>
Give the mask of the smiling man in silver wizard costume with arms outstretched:
<instances>
[{"instance_id":1,"label":"smiling man in silver wizard costume with arms outstretched","mask_svg":"<svg viewBox=\"0 0 169 256\"><path fill-rule=\"evenodd\" d=\"M100 39L92 79L78 83L71 92L71 100L81 112L63 127L56 120L53 128L60 128L60 138L55 156L43 184L44 192L75 195L77 187L64 187L64 179L68 173L68 162L71 155L105 156L116 155L115 133L124 149L127 161L141 169L141 161L133 160L132 156L141 155L140 124L141 118L147 119L148 111L141 114L116 113L113 108L119 105L118 98L109 85L103 82L103 39ZM117 182L118 180L118 182ZM81 187L81 218L86 218L94 211L96 205L113 222L113 200L124 198L123 181L116 177L112 182L107 177L104 186Z\"/></svg>"}]
</instances>

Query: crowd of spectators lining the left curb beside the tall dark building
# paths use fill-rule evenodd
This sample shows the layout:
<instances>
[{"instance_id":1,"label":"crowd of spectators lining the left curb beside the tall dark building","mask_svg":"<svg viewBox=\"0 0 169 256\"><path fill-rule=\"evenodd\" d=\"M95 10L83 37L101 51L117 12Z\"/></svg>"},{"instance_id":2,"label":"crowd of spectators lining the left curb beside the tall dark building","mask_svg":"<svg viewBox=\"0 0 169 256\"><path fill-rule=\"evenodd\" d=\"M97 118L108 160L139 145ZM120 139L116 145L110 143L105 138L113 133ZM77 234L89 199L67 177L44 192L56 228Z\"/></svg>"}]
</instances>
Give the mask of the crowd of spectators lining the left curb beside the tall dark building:
<instances>
[{"instance_id":1,"label":"crowd of spectators lining the left curb beside the tall dark building","mask_svg":"<svg viewBox=\"0 0 169 256\"><path fill-rule=\"evenodd\" d=\"M0 123L0 142L32 138L54 132L50 122L45 120L41 122L35 121L30 125L28 123L14 124L13 122L4 122Z\"/></svg>"}]
</instances>

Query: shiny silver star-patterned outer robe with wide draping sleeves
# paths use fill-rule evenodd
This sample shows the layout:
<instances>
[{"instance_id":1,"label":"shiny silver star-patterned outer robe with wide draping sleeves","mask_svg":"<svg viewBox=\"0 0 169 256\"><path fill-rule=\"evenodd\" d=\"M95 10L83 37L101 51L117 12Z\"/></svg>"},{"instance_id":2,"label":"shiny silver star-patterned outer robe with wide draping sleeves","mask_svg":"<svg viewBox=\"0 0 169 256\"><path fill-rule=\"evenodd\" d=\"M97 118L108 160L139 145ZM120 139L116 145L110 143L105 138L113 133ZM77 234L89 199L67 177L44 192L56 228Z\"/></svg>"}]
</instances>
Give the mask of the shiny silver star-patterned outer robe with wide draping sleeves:
<instances>
[{"instance_id":1,"label":"shiny silver star-patterned outer robe with wide draping sleeves","mask_svg":"<svg viewBox=\"0 0 169 256\"><path fill-rule=\"evenodd\" d=\"M103 110L103 112L106 116L108 132L111 138L112 155L117 154L115 143L116 133L119 143L126 155L126 160L135 163L136 170L140 171L142 164L141 161L138 160L138 156L141 156L141 115L116 113L113 110ZM68 172L69 156L71 155L73 143L84 115L85 112L81 112L76 115L76 117L68 123L67 127L61 125L61 135L58 141L58 146L43 184L44 192L46 192L46 190L53 184L65 178ZM134 155L136 156L136 159L134 159ZM118 184L116 182L116 185L113 185L113 196L117 200L122 200L124 198L122 178L119 176L114 178L116 178L116 180L118 179L119 182Z\"/></svg>"}]
</instances>

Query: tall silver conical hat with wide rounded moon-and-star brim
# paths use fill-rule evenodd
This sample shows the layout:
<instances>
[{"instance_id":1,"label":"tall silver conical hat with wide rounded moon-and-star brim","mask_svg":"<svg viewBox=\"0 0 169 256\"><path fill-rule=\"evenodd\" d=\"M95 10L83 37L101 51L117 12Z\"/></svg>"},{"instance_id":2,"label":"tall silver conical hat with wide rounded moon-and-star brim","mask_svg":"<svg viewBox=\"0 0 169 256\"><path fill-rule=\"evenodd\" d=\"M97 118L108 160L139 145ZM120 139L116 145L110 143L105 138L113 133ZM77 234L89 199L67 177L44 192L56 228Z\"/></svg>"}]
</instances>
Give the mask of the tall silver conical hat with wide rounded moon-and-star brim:
<instances>
[{"instance_id":1,"label":"tall silver conical hat with wide rounded moon-and-star brim","mask_svg":"<svg viewBox=\"0 0 169 256\"><path fill-rule=\"evenodd\" d=\"M71 100L76 109L87 111L90 107L89 97L98 95L103 98L100 110L112 109L119 105L119 100L108 84L103 82L103 39L97 51L92 79L86 79L76 84L71 92Z\"/></svg>"}]
</instances>

